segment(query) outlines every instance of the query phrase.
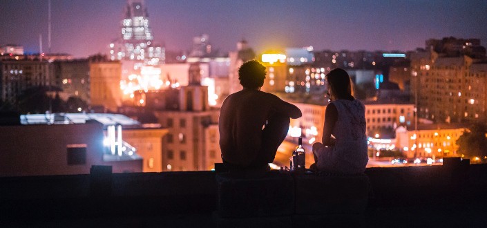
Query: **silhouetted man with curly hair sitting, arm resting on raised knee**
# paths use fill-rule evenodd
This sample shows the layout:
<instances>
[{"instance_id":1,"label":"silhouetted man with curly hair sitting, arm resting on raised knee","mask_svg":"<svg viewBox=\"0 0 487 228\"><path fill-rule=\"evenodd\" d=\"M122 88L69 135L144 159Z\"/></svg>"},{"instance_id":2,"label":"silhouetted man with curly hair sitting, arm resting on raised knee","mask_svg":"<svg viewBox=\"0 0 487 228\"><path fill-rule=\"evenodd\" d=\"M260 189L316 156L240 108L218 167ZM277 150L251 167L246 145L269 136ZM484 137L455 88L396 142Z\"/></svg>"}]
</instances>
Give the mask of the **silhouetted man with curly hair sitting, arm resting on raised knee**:
<instances>
[{"instance_id":1,"label":"silhouetted man with curly hair sitting, arm resting on raised knee","mask_svg":"<svg viewBox=\"0 0 487 228\"><path fill-rule=\"evenodd\" d=\"M242 91L225 99L220 109L220 148L230 171L268 171L289 129L289 117L301 111L276 95L260 91L265 66L247 61L238 70Z\"/></svg>"}]
</instances>

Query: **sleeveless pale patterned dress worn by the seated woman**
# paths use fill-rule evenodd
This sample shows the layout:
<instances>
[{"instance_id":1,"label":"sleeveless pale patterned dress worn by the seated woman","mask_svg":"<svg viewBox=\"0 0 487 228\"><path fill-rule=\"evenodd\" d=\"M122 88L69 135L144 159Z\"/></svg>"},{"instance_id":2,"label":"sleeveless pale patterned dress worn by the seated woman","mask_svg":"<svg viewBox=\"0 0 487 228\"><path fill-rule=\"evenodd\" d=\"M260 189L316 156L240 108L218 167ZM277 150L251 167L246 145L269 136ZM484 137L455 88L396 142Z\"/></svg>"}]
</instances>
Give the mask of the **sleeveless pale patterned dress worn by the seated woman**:
<instances>
[{"instance_id":1,"label":"sleeveless pale patterned dress worn by the seated woman","mask_svg":"<svg viewBox=\"0 0 487 228\"><path fill-rule=\"evenodd\" d=\"M334 146L323 146L316 151L316 167L336 173L363 173L369 160L365 135L365 106L354 99L333 101L338 120L332 129Z\"/></svg>"}]
</instances>

